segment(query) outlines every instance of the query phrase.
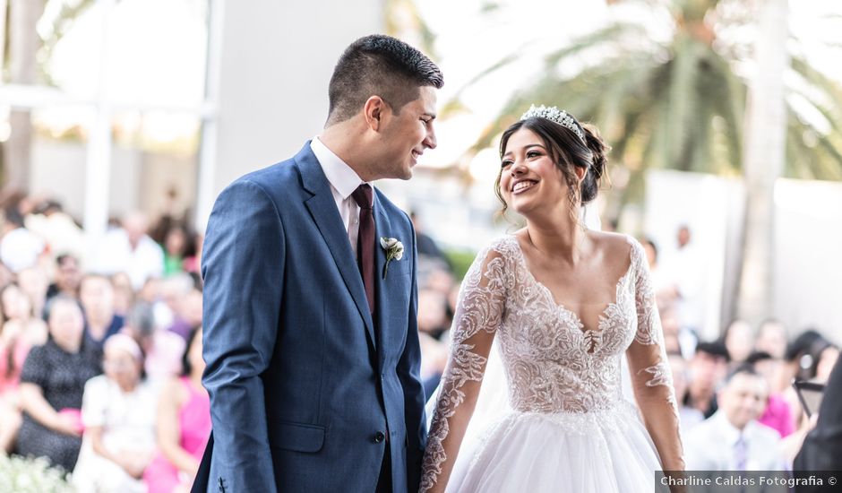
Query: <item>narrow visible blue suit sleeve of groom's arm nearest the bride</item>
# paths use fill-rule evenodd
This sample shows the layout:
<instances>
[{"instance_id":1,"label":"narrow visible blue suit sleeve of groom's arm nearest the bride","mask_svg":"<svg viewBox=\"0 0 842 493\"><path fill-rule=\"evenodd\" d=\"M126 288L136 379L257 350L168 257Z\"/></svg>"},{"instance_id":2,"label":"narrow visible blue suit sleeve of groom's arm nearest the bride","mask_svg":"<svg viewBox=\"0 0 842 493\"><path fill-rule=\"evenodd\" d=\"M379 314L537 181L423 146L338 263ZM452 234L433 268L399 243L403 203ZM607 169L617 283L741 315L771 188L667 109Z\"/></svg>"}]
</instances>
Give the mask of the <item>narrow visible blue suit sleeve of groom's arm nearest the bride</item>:
<instances>
[{"instance_id":1,"label":"narrow visible blue suit sleeve of groom's arm nearest the bride","mask_svg":"<svg viewBox=\"0 0 842 493\"><path fill-rule=\"evenodd\" d=\"M410 222L411 227L411 222ZM415 229L410 235L412 241L412 290L409 295L409 313L407 320L407 344L398 361L398 377L403 387L404 412L407 425L407 483L408 491L417 491L421 480L421 461L426 446L426 402L424 387L421 384L421 346L418 342L418 285L417 285L417 246Z\"/></svg>"}]
</instances>

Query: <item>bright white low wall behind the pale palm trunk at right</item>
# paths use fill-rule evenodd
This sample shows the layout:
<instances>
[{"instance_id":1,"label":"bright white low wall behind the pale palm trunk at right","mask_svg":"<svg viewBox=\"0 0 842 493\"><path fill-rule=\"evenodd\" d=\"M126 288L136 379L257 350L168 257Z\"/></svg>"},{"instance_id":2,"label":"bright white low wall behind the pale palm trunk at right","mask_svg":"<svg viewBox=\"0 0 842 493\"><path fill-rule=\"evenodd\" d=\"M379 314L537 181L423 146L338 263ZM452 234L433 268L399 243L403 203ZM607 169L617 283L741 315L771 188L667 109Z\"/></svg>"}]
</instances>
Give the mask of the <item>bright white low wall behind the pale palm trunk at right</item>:
<instances>
[{"instance_id":1,"label":"bright white low wall behind the pale palm trunk at right","mask_svg":"<svg viewBox=\"0 0 842 493\"><path fill-rule=\"evenodd\" d=\"M644 232L668 256L682 223L705 265L704 339L716 338L727 322L738 272L744 191L738 178L678 171L647 177ZM842 184L778 179L775 186L774 303L768 315L786 324L790 337L812 327L842 342Z\"/></svg>"}]
</instances>

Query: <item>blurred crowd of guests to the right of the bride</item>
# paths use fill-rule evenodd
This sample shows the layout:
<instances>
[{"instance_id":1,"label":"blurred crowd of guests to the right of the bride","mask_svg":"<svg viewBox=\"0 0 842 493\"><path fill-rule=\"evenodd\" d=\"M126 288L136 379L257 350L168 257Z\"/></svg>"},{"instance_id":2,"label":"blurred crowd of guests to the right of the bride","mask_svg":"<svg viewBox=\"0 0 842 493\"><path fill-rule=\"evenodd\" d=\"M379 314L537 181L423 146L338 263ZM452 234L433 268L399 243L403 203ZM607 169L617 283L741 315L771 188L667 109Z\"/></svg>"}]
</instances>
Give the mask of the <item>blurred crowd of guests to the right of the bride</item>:
<instances>
[{"instance_id":1,"label":"blurred crowd of guests to the right of the bride","mask_svg":"<svg viewBox=\"0 0 842 493\"><path fill-rule=\"evenodd\" d=\"M826 383L837 344L771 317L756 326L734 320L716 340L700 340L701 263L691 229L678 229L676 253L664 262L651 240L641 243L655 280L688 469L792 470L817 417L811 410L810 419L793 383Z\"/></svg>"}]
</instances>

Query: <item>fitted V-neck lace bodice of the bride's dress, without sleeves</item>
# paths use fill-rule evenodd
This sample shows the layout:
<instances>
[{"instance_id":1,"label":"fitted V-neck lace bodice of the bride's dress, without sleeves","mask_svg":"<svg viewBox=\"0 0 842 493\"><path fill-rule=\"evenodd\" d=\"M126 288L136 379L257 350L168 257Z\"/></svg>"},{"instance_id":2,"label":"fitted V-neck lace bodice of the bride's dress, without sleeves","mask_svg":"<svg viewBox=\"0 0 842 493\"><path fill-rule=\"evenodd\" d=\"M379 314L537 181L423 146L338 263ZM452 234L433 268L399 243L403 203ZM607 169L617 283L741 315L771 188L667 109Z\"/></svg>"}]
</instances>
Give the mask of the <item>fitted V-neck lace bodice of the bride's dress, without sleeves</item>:
<instances>
[{"instance_id":1,"label":"fitted V-neck lace bodice of the bride's dress, without sleeves","mask_svg":"<svg viewBox=\"0 0 842 493\"><path fill-rule=\"evenodd\" d=\"M516 411L596 411L622 397L620 358L637 331L635 264L617 281L615 300L602 311L598 327L586 329L573 311L556 303L550 290L528 271L518 240L494 245L506 280L505 310L497 329ZM488 269L497 268L488 265Z\"/></svg>"}]
</instances>

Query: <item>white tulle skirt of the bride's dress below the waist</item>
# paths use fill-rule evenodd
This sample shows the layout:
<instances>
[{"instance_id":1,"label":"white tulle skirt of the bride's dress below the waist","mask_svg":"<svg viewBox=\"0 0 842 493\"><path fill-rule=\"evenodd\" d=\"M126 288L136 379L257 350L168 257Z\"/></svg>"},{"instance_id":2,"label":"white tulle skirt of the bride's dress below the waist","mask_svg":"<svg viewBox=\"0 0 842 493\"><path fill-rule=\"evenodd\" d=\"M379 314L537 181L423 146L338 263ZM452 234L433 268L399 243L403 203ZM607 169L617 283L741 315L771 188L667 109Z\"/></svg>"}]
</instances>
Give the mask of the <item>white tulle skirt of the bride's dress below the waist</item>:
<instances>
[{"instance_id":1,"label":"white tulle skirt of the bride's dress below the waist","mask_svg":"<svg viewBox=\"0 0 842 493\"><path fill-rule=\"evenodd\" d=\"M463 443L447 491L651 493L655 446L630 402L605 411L515 412Z\"/></svg>"}]
</instances>

